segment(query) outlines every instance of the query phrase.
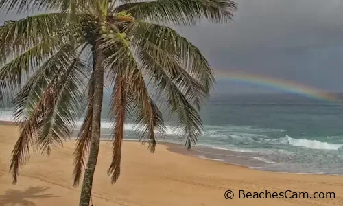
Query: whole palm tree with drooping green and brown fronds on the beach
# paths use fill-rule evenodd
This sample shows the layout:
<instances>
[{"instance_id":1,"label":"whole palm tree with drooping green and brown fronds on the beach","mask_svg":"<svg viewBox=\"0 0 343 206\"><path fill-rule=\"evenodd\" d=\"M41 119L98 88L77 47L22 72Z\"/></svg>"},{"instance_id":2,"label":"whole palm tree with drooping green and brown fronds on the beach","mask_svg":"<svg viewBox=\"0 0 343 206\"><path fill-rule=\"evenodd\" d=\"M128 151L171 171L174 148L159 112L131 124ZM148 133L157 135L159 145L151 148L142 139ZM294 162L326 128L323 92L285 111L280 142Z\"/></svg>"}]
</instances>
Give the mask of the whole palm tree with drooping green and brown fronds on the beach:
<instances>
[{"instance_id":1,"label":"whole palm tree with drooping green and brown fronds on the beach","mask_svg":"<svg viewBox=\"0 0 343 206\"><path fill-rule=\"evenodd\" d=\"M213 71L199 49L166 25L226 23L236 10L233 1L0 0L0 8L42 13L6 21L0 29L0 105L12 100L21 128L10 161L13 183L32 149L49 155L85 113L73 178L78 186L85 171L80 205L89 204L105 83L113 89L112 183L120 174L127 119L139 125L140 139L147 139L154 152L156 135L165 134L164 105L177 115L187 148L196 144L202 128L199 111L213 87Z\"/></svg>"}]
</instances>

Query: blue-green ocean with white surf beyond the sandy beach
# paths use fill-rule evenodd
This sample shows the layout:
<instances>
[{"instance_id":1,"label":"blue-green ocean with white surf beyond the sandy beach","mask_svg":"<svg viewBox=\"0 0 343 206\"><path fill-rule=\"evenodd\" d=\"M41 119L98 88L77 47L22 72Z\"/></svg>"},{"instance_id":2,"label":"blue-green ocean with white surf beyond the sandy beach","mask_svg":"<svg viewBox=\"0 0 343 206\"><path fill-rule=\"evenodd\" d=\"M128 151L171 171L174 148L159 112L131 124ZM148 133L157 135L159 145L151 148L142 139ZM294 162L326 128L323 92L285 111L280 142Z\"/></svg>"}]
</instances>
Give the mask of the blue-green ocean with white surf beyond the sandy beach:
<instances>
[{"instance_id":1,"label":"blue-green ocean with white surf beyond the sandy beach","mask_svg":"<svg viewBox=\"0 0 343 206\"><path fill-rule=\"evenodd\" d=\"M102 138L110 137L109 97L104 98ZM11 120L11 111L0 120ZM256 170L343 174L343 106L294 94L213 95L202 109L204 130L193 155ZM82 123L80 119L78 126ZM169 122L167 122L169 124ZM184 144L167 126L158 141ZM137 139L126 124L126 139Z\"/></svg>"}]
</instances>

